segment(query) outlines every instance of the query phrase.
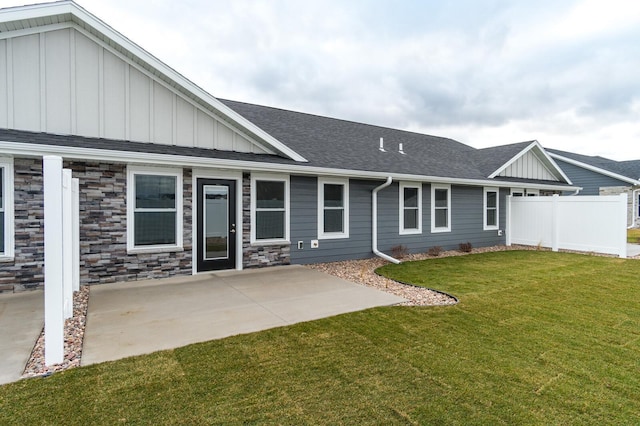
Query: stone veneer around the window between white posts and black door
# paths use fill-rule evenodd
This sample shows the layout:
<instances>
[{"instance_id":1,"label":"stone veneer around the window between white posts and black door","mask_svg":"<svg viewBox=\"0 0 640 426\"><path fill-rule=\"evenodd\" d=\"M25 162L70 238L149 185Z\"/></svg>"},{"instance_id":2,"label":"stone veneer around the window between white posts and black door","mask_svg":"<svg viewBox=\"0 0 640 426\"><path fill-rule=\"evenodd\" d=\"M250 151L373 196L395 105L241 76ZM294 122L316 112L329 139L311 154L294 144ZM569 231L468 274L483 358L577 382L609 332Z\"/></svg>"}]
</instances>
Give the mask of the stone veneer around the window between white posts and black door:
<instances>
[{"instance_id":1,"label":"stone veneer around the window between white posts and black door","mask_svg":"<svg viewBox=\"0 0 640 426\"><path fill-rule=\"evenodd\" d=\"M183 250L128 254L126 164L65 161L64 167L80 179L81 284L191 274L191 169L183 169Z\"/></svg>"}]
</instances>

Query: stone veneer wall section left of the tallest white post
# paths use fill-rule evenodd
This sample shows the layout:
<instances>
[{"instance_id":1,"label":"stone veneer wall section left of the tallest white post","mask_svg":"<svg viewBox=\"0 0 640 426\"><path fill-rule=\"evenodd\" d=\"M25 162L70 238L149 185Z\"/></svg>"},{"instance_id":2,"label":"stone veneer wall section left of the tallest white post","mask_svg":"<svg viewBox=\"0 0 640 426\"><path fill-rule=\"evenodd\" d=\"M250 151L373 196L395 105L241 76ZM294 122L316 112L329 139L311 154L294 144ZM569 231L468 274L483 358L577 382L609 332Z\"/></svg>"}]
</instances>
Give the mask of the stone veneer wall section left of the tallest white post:
<instances>
[{"instance_id":1,"label":"stone veneer wall section left of the tallest white post","mask_svg":"<svg viewBox=\"0 0 640 426\"><path fill-rule=\"evenodd\" d=\"M44 284L42 159L16 158L14 168L15 257L0 262L0 293Z\"/></svg>"}]
</instances>

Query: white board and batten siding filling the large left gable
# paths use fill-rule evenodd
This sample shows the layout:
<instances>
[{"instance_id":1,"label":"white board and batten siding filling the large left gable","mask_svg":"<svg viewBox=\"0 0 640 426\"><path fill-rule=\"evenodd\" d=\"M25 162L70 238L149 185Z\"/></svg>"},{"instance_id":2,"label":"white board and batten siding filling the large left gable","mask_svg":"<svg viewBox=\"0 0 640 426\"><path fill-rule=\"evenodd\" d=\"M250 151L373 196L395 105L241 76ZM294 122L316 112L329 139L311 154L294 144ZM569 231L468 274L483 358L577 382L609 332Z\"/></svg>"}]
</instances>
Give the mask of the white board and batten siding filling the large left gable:
<instances>
[{"instance_id":1,"label":"white board and batten siding filling the large left gable","mask_svg":"<svg viewBox=\"0 0 640 426\"><path fill-rule=\"evenodd\" d=\"M72 27L0 39L0 128L272 153Z\"/></svg>"}]
</instances>

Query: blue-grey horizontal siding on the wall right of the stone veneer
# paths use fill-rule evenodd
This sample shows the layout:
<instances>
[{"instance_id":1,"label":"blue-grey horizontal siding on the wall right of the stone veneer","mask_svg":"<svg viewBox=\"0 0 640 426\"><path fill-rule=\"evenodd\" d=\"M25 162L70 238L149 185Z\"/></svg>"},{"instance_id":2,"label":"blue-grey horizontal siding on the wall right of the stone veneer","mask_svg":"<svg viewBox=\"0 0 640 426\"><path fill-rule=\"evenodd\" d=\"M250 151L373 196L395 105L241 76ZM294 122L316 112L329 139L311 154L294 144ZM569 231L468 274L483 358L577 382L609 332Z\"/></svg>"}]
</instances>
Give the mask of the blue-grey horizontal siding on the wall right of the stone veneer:
<instances>
[{"instance_id":1,"label":"blue-grey horizontal siding on the wall right of the stone veneer","mask_svg":"<svg viewBox=\"0 0 640 426\"><path fill-rule=\"evenodd\" d=\"M311 240L318 239L318 184L315 177L291 176L291 263L305 264L364 259L373 256L371 250L371 192L383 181L349 181L349 238L319 240L312 249ZM426 252L430 247L457 249L460 243L473 247L505 244L504 233L483 230L483 188L452 186L451 232L431 233L431 186L422 185L422 234L399 233L399 184L378 192L378 248L391 254L391 249L404 245L409 252ZM500 190L500 229L506 226L506 196ZM298 249L298 241L304 248Z\"/></svg>"}]
</instances>

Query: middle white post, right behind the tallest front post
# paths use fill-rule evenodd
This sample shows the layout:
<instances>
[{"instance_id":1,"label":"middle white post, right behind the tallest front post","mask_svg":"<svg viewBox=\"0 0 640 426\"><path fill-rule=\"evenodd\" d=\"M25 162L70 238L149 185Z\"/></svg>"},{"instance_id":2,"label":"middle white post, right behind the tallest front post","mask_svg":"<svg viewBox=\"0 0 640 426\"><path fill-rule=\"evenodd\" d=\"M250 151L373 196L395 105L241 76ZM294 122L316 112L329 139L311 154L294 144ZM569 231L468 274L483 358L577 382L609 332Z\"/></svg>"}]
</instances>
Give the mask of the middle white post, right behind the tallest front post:
<instances>
[{"instance_id":1,"label":"middle white post, right behind the tallest front post","mask_svg":"<svg viewBox=\"0 0 640 426\"><path fill-rule=\"evenodd\" d=\"M73 181L71 170L62 170L62 288L64 318L73 316Z\"/></svg>"}]
</instances>

